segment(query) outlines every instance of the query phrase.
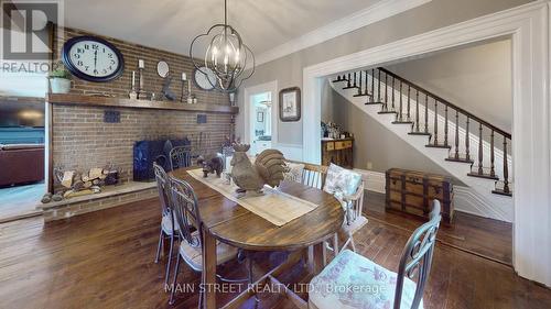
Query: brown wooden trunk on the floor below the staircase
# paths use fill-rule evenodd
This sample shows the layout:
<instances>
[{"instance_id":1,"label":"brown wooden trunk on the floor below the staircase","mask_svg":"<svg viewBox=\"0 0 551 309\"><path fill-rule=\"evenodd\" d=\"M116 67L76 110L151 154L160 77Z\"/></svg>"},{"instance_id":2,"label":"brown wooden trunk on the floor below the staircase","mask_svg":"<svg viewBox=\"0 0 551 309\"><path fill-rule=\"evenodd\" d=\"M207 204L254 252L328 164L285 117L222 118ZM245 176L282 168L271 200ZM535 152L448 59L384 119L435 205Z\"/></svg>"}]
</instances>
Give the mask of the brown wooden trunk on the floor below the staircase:
<instances>
[{"instance_id":1,"label":"brown wooden trunk on the floor below the staircase","mask_svg":"<svg viewBox=\"0 0 551 309\"><path fill-rule=\"evenodd\" d=\"M453 221L453 185L450 177L390 168L387 175L387 209L429 218L431 201L437 199L444 222Z\"/></svg>"}]
</instances>

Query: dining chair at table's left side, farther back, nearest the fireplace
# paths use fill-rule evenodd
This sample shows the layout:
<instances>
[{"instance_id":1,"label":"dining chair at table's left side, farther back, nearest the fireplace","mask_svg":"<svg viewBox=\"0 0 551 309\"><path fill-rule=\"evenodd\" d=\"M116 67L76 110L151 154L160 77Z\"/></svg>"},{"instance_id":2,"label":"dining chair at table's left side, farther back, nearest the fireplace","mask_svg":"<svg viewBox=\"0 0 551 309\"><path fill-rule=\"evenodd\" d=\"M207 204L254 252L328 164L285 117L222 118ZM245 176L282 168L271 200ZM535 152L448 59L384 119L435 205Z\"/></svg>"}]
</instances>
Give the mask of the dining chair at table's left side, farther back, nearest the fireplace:
<instances>
[{"instance_id":1,"label":"dining chair at table's left side, farther back, nearest the fireplace","mask_svg":"<svg viewBox=\"0 0 551 309\"><path fill-rule=\"evenodd\" d=\"M164 240L170 239L169 258L166 260L166 273L164 276L164 284L169 284L169 276L172 263L172 250L174 247L174 239L177 238L179 225L174 221L174 211L171 207L170 191L169 191L169 176L162 166L153 163L153 170L155 173L156 189L159 191L159 201L161 202L161 231L159 233L159 243L156 245L155 264L159 263L161 249L164 246Z\"/></svg>"}]
</instances>

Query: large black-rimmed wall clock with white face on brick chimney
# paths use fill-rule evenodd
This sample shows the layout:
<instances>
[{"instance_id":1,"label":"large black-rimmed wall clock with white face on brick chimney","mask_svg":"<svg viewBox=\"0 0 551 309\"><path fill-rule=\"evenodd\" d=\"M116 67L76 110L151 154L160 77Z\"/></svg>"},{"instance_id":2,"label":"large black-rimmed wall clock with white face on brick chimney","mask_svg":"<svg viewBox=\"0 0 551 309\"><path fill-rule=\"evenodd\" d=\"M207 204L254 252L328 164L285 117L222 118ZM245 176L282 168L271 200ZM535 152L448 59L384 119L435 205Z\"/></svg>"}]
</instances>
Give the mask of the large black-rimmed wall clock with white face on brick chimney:
<instances>
[{"instance_id":1,"label":"large black-rimmed wall clock with white face on brick chimney","mask_svg":"<svg viewBox=\"0 0 551 309\"><path fill-rule=\"evenodd\" d=\"M125 58L111 43L95 36L76 36L63 45L63 63L76 77L105 82L125 70Z\"/></svg>"}]
</instances>

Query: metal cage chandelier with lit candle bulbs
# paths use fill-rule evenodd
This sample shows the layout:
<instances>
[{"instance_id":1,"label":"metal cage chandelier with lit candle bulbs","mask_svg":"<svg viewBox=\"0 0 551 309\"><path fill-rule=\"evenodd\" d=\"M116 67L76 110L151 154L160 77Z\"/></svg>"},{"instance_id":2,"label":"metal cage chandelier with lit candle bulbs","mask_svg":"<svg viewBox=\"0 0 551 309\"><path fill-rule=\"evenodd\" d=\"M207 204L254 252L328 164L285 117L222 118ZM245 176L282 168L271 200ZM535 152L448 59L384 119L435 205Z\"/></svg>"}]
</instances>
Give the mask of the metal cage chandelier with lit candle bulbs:
<instances>
[{"instance_id":1,"label":"metal cage chandelier with lit candle bulbs","mask_svg":"<svg viewBox=\"0 0 551 309\"><path fill-rule=\"evenodd\" d=\"M255 55L242 43L241 35L227 22L227 0L224 0L224 24L213 25L206 33L195 36L190 46L194 67L219 91L235 92L241 82L255 73ZM204 55L194 54L195 45L208 43ZM204 58L204 63L197 59ZM247 65L251 65L247 69Z\"/></svg>"}]
</instances>

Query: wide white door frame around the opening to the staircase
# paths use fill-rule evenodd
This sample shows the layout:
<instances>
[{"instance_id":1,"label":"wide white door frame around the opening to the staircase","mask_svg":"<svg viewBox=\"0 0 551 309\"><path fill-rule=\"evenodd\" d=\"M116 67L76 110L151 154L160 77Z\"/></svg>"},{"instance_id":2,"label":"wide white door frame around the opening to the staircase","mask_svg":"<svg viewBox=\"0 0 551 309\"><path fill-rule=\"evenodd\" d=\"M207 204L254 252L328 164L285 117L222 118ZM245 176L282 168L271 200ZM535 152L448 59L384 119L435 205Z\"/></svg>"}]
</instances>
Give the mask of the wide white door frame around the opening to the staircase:
<instances>
[{"instance_id":1,"label":"wide white door frame around the opening to the staircase","mask_svg":"<svg viewBox=\"0 0 551 309\"><path fill-rule=\"evenodd\" d=\"M512 41L514 265L551 286L551 133L549 1L536 1L338 57L303 70L303 157L321 162L322 79L489 38Z\"/></svg>"}]
</instances>

